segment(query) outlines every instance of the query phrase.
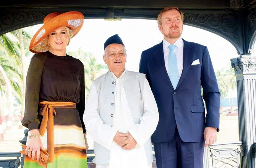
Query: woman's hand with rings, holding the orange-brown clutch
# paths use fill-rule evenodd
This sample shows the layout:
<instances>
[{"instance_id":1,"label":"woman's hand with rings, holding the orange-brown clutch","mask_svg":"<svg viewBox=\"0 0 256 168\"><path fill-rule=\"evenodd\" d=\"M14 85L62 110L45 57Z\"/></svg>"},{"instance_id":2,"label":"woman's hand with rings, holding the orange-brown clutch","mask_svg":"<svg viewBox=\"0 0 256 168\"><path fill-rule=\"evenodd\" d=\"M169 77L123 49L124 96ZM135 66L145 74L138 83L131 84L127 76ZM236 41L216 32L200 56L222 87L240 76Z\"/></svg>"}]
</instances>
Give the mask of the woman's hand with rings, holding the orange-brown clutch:
<instances>
[{"instance_id":1,"label":"woman's hand with rings, holding the orange-brown clutch","mask_svg":"<svg viewBox=\"0 0 256 168\"><path fill-rule=\"evenodd\" d=\"M30 131L31 135L38 134L38 133L39 133L38 129L32 129ZM27 148L25 150L26 155L28 155L29 158L32 157L32 160L35 160L35 153L36 153L37 154L36 159L37 159L37 161L39 161L39 159L40 159L40 148L44 149L40 137L31 138L30 141L29 141L29 144L27 145Z\"/></svg>"}]
</instances>

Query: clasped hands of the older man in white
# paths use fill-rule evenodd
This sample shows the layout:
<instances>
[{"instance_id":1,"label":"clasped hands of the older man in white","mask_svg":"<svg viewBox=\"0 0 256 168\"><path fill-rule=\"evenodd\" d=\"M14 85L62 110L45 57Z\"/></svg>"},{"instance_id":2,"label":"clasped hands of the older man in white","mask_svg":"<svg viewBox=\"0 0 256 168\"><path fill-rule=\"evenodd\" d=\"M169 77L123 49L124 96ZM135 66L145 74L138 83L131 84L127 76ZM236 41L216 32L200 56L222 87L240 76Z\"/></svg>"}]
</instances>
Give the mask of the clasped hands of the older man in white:
<instances>
[{"instance_id":1,"label":"clasped hands of the older man in white","mask_svg":"<svg viewBox=\"0 0 256 168\"><path fill-rule=\"evenodd\" d=\"M113 141L115 141L120 147L126 150L134 149L135 145L137 144L137 142L129 132L123 133L117 131Z\"/></svg>"}]
</instances>

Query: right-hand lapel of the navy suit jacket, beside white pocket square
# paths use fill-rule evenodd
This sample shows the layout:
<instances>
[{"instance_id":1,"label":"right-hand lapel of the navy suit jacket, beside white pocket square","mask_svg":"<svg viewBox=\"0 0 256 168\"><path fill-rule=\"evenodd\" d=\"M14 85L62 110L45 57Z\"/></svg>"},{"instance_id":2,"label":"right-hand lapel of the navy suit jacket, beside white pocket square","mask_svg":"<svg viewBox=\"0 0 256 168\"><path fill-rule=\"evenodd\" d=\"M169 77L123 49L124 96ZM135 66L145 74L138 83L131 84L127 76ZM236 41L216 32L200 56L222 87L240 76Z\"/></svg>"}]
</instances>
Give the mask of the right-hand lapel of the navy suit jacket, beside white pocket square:
<instances>
[{"instance_id":1,"label":"right-hand lapel of the navy suit jacket, beside white pocket square","mask_svg":"<svg viewBox=\"0 0 256 168\"><path fill-rule=\"evenodd\" d=\"M183 39L182 39L183 40ZM190 65L193 61L194 57L194 47L190 42L187 42L183 40L184 46L183 46L183 69L180 76L180 80L178 82L178 85L176 88L178 88L183 81L183 79L186 76L186 73L188 72L188 69L190 68Z\"/></svg>"}]
</instances>

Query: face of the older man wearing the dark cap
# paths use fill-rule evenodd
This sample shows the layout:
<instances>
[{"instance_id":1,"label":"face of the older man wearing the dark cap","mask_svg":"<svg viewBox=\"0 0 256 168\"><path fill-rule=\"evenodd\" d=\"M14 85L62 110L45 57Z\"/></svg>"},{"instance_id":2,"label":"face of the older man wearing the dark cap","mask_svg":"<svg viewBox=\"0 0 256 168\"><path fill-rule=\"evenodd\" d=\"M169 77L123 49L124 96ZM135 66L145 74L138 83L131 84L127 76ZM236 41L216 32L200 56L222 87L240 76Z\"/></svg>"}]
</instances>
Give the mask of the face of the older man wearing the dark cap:
<instances>
[{"instance_id":1,"label":"face of the older man wearing the dark cap","mask_svg":"<svg viewBox=\"0 0 256 168\"><path fill-rule=\"evenodd\" d=\"M105 64L110 72L119 72L125 70L126 54L125 47L122 44L110 44L105 49L103 55Z\"/></svg>"}]
</instances>

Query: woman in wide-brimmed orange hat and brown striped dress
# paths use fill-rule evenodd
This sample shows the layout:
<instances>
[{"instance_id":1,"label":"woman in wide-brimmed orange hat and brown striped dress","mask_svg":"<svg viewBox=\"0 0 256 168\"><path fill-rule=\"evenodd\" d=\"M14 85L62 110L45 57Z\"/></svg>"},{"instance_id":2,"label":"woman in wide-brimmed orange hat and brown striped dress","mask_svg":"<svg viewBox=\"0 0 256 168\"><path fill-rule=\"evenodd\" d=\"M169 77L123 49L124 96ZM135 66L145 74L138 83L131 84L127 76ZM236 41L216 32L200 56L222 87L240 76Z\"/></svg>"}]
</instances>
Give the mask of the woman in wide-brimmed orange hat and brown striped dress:
<instances>
[{"instance_id":1,"label":"woman in wide-brimmed orange hat and brown striped dress","mask_svg":"<svg viewBox=\"0 0 256 168\"><path fill-rule=\"evenodd\" d=\"M84 66L66 55L66 46L83 26L78 11L50 13L31 40L26 78L25 114L29 128L24 168L41 167L40 148L49 153L50 168L86 168ZM36 155L35 155L36 152Z\"/></svg>"}]
</instances>

